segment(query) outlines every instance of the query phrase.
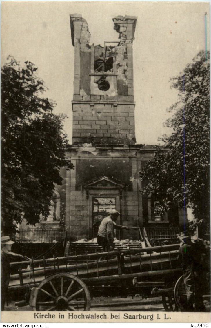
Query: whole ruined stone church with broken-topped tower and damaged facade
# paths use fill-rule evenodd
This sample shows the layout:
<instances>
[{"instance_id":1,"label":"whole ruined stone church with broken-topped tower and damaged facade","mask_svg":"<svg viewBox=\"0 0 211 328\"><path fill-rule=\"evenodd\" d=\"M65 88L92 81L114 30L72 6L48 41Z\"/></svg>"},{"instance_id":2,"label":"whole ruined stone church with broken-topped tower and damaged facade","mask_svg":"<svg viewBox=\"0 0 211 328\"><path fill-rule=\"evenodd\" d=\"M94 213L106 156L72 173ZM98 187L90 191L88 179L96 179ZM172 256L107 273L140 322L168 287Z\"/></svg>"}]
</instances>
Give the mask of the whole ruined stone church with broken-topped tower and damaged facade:
<instances>
[{"instance_id":1,"label":"whole ruined stone church with broken-topped tower and damaged facade","mask_svg":"<svg viewBox=\"0 0 211 328\"><path fill-rule=\"evenodd\" d=\"M155 216L153 195L140 192L139 171L153 158L155 147L136 143L136 22L135 16L117 16L113 24L119 41L90 45L86 20L80 14L70 15L74 94L73 138L67 157L74 169L61 169L63 184L55 188L50 215L35 228L42 230L42 236L46 235L43 231L52 230L54 235L49 238L56 239L65 231L71 241L90 240L111 209L120 213L118 224L124 226L156 231L183 225L183 210L172 208ZM130 230L130 235L122 233L117 238L139 238L136 229Z\"/></svg>"}]
</instances>

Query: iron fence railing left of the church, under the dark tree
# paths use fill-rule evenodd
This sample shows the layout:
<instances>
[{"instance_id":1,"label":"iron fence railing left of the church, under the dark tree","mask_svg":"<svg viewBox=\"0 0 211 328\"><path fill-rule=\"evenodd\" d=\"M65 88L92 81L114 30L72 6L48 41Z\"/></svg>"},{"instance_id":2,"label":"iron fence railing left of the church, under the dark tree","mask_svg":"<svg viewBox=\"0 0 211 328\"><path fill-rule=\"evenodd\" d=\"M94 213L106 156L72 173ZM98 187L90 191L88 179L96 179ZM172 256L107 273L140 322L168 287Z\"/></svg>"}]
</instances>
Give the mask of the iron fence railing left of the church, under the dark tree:
<instances>
[{"instance_id":1,"label":"iron fence railing left of the church, under the dark tree","mask_svg":"<svg viewBox=\"0 0 211 328\"><path fill-rule=\"evenodd\" d=\"M20 229L13 240L18 243L52 243L64 241L64 232L61 229Z\"/></svg>"}]
</instances>

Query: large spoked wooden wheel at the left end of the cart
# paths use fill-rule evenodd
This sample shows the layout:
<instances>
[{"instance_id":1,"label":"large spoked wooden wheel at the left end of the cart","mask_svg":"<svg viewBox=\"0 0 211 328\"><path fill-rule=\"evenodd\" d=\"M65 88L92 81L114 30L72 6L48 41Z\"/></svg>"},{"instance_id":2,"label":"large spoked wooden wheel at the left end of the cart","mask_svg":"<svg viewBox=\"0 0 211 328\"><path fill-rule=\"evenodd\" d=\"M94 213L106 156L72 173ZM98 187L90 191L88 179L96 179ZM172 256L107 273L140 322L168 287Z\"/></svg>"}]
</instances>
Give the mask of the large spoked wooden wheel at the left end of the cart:
<instances>
[{"instance_id":1,"label":"large spoked wooden wheel at the left end of the cart","mask_svg":"<svg viewBox=\"0 0 211 328\"><path fill-rule=\"evenodd\" d=\"M89 311L91 297L85 283L70 273L45 278L35 288L33 311Z\"/></svg>"}]
</instances>

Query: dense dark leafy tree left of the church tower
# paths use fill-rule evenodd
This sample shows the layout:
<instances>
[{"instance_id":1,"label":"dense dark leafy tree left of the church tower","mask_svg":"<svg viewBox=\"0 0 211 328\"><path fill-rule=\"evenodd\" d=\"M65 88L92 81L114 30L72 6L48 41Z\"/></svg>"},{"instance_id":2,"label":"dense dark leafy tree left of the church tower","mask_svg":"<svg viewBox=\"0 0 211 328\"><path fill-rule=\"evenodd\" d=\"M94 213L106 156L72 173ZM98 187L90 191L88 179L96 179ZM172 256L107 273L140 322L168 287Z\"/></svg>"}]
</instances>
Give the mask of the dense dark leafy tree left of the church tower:
<instances>
[{"instance_id":1,"label":"dense dark leafy tree left of the church tower","mask_svg":"<svg viewBox=\"0 0 211 328\"><path fill-rule=\"evenodd\" d=\"M73 168L65 157L64 115L42 97L46 90L31 62L26 67L9 57L1 68L1 191L5 233L23 218L28 224L49 214L54 184L61 185L61 167Z\"/></svg>"}]
</instances>

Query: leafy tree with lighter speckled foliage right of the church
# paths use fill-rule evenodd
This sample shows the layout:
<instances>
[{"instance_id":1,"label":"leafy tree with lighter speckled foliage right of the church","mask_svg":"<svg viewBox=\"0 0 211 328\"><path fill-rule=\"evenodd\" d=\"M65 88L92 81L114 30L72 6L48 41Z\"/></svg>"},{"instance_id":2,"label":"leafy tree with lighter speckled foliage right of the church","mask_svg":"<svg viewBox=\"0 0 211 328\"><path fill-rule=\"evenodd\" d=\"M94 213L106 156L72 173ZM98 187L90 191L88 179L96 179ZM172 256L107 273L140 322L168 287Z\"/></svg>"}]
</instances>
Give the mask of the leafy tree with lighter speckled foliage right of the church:
<instances>
[{"instance_id":1,"label":"leafy tree with lighter speckled foliage right of the church","mask_svg":"<svg viewBox=\"0 0 211 328\"><path fill-rule=\"evenodd\" d=\"M177 204L193 209L195 222L203 227L210 217L210 64L209 53L200 51L179 76L171 79L178 101L168 109L173 116L165 125L154 159L140 172L146 183L143 194L152 193L160 202L159 214ZM157 214L158 214L157 213Z\"/></svg>"}]
</instances>

